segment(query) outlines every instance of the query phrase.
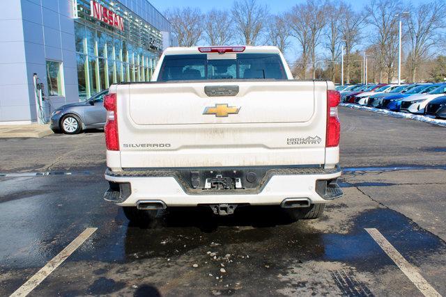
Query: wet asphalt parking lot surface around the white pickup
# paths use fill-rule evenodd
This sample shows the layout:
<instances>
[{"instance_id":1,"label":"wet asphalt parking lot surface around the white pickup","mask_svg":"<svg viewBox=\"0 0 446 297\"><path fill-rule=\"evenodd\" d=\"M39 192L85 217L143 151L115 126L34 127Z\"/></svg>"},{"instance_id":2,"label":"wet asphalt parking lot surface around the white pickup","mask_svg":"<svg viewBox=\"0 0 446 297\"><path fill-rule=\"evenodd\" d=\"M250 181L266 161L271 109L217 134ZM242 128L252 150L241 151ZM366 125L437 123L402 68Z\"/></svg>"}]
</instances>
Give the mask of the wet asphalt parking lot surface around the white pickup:
<instances>
[{"instance_id":1,"label":"wet asphalt parking lot surface around the white pickup","mask_svg":"<svg viewBox=\"0 0 446 297\"><path fill-rule=\"evenodd\" d=\"M340 117L344 197L295 223L245 208L129 225L102 200L102 132L0 140L0 295L445 296L446 129Z\"/></svg>"}]
</instances>

